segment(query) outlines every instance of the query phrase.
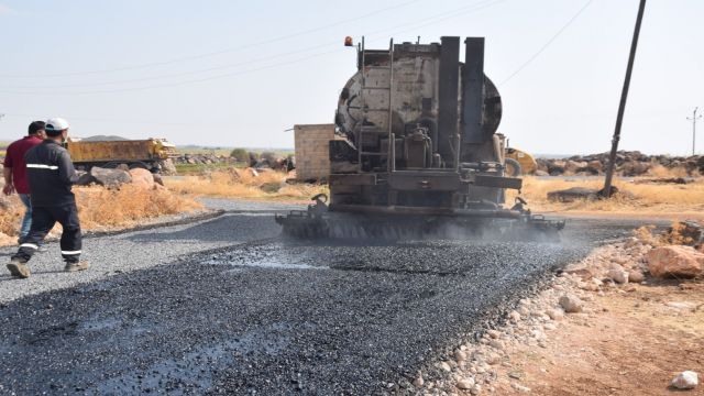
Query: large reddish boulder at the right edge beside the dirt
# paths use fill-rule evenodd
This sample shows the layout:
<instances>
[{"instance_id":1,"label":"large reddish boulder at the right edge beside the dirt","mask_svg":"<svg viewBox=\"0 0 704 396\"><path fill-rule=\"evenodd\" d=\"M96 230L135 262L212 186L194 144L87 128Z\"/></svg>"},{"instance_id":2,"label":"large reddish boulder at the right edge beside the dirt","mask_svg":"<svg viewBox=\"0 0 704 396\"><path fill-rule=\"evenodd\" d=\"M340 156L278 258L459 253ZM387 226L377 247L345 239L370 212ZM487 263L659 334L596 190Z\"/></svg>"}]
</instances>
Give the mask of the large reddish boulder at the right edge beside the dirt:
<instances>
[{"instance_id":1,"label":"large reddish boulder at the right edge beside the dirt","mask_svg":"<svg viewBox=\"0 0 704 396\"><path fill-rule=\"evenodd\" d=\"M671 245L648 252L648 271L657 277L692 278L702 274L704 253L694 248Z\"/></svg>"}]
</instances>

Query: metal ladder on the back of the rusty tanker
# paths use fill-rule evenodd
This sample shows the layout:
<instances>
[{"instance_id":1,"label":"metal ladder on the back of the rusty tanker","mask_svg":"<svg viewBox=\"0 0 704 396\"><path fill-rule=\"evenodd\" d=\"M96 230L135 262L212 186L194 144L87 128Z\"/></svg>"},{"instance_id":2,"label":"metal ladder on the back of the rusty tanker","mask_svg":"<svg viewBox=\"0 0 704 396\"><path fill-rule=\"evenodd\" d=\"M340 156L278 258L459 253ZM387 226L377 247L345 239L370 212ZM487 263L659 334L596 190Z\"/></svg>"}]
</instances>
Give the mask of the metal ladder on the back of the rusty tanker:
<instances>
[{"instance_id":1,"label":"metal ladder on the back of the rusty tanker","mask_svg":"<svg viewBox=\"0 0 704 396\"><path fill-rule=\"evenodd\" d=\"M394 133L392 132L392 100L394 99L394 96L393 96L393 92L394 92L393 90L394 88L394 38L392 38L388 44L388 66L365 66L364 65L364 59L365 59L364 36L362 36L362 45L361 45L360 52L362 54L362 65L361 65L362 86L360 89L360 99L361 99L360 101L362 107L363 121L362 121L362 127L360 128L358 164L360 166L360 172L362 172L363 158L367 156L386 156L386 172L391 174L392 172L396 170L396 161L395 160L389 161L389 158L396 157L395 136L394 136ZM388 87L367 87L366 86L367 72L371 69L388 69ZM388 91L388 108L387 109L370 109L366 106L366 98L364 96L364 91L367 89L369 90L381 89L381 90ZM366 121L366 116L370 113L370 111L385 111L388 113L388 147L387 147L388 150L386 153L363 151L364 135L378 134L378 129L376 128L365 129L364 127L364 121Z\"/></svg>"}]
</instances>

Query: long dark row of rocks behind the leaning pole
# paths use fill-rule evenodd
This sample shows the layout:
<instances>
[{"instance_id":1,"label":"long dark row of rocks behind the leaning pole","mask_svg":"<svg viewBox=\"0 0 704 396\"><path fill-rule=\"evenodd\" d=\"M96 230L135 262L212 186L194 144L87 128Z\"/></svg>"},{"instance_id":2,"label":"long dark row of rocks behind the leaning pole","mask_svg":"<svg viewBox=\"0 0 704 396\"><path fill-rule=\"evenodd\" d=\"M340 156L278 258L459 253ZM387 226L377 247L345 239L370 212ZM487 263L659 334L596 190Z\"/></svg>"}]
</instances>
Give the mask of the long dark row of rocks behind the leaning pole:
<instances>
[{"instance_id":1,"label":"long dark row of rocks behind the leaning pole","mask_svg":"<svg viewBox=\"0 0 704 396\"><path fill-rule=\"evenodd\" d=\"M561 160L538 158L537 163L536 174L539 176L596 176L603 175L606 170L608 153L575 155ZM701 155L646 155L638 151L619 151L616 155L616 174L620 176L645 175L656 165L668 169L684 169L688 175L704 174L704 156Z\"/></svg>"}]
</instances>

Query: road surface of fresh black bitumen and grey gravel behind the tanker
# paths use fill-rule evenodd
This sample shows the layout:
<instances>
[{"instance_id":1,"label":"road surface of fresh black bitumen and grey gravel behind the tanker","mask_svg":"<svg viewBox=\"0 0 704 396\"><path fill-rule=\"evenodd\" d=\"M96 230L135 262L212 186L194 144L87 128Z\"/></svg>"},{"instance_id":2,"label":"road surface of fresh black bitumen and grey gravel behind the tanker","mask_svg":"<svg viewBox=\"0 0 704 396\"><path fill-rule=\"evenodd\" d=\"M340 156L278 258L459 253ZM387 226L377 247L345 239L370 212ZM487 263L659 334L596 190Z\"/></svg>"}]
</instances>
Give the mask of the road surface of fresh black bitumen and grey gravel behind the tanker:
<instances>
[{"instance_id":1,"label":"road surface of fresh black bitumen and grey gravel behind the tanker","mask_svg":"<svg viewBox=\"0 0 704 396\"><path fill-rule=\"evenodd\" d=\"M575 220L562 244L314 245L278 237L283 206L208 205L231 212L88 239L89 272L59 272L52 243L31 279L3 274L0 394L413 393L404 375L635 226Z\"/></svg>"}]
</instances>

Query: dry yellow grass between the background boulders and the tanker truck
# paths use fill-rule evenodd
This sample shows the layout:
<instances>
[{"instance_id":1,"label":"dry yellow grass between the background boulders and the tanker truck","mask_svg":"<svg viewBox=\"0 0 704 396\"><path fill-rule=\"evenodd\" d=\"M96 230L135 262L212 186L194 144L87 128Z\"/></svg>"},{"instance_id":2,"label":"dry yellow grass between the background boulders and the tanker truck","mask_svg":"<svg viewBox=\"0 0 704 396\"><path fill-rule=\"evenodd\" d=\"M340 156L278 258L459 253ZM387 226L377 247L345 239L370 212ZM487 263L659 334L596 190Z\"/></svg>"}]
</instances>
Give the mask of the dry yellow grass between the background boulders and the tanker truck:
<instances>
[{"instance_id":1,"label":"dry yellow grass between the background boulders and the tanker truck","mask_svg":"<svg viewBox=\"0 0 704 396\"><path fill-rule=\"evenodd\" d=\"M308 200L316 194L328 193L324 185L287 184L286 179L287 175L280 172L262 172L255 176L251 169L232 168L167 179L165 184L180 194L227 198Z\"/></svg>"}]
</instances>

